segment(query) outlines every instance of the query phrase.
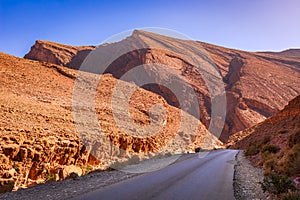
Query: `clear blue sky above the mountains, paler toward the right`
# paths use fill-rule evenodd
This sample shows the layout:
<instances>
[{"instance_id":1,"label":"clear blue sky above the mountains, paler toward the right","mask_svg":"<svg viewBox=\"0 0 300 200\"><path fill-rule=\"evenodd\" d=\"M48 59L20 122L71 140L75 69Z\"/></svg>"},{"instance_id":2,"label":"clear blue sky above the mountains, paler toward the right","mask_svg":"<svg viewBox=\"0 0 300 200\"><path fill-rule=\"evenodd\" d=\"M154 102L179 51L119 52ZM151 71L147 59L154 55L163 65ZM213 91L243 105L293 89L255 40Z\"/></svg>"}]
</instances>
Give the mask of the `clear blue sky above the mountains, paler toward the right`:
<instances>
[{"instance_id":1,"label":"clear blue sky above the mountains, paler toward the right","mask_svg":"<svg viewBox=\"0 0 300 200\"><path fill-rule=\"evenodd\" d=\"M143 27L247 51L300 48L300 0L0 0L0 52L18 57L38 39L99 45Z\"/></svg>"}]
</instances>

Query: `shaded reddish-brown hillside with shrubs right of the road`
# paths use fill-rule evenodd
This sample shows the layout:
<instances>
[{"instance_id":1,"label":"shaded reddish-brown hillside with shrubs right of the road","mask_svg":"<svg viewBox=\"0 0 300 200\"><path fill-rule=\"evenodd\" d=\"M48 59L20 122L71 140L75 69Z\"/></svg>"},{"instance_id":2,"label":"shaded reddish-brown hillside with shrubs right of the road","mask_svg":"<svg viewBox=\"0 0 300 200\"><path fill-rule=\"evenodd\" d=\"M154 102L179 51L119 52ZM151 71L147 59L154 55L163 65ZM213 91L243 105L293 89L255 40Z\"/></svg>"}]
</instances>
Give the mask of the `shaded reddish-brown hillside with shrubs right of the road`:
<instances>
[{"instance_id":1,"label":"shaded reddish-brown hillside with shrubs right of the road","mask_svg":"<svg viewBox=\"0 0 300 200\"><path fill-rule=\"evenodd\" d=\"M281 111L246 130L233 134L228 145L245 149L264 173L300 176L300 96Z\"/></svg>"}]
</instances>

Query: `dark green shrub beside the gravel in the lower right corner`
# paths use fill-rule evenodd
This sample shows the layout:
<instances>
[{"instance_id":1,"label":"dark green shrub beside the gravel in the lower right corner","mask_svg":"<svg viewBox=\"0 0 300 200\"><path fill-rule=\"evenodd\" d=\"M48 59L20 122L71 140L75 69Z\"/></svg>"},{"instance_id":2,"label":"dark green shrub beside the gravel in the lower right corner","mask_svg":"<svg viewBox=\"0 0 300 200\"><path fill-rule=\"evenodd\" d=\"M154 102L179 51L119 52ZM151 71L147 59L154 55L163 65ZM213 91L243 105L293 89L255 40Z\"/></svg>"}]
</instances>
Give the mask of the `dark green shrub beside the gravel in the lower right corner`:
<instances>
[{"instance_id":1,"label":"dark green shrub beside the gravel in the lower right corner","mask_svg":"<svg viewBox=\"0 0 300 200\"><path fill-rule=\"evenodd\" d=\"M295 191L296 189L291 179L278 174L271 174L265 177L260 184L264 192L269 192L277 196L289 191Z\"/></svg>"}]
</instances>

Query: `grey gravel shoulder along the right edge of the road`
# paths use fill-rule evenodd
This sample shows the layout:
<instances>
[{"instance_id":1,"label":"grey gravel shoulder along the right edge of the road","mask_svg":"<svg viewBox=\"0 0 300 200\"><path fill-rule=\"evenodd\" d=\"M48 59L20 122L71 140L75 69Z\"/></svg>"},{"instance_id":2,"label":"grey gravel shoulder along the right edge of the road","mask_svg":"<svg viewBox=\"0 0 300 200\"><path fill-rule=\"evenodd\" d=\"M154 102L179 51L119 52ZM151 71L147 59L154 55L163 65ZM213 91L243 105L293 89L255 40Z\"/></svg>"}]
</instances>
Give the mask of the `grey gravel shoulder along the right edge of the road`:
<instances>
[{"instance_id":1,"label":"grey gravel shoulder along the right edge of the road","mask_svg":"<svg viewBox=\"0 0 300 200\"><path fill-rule=\"evenodd\" d=\"M236 155L233 181L236 200L271 199L267 193L263 193L259 184L263 181L262 169L253 167L243 151Z\"/></svg>"}]
</instances>

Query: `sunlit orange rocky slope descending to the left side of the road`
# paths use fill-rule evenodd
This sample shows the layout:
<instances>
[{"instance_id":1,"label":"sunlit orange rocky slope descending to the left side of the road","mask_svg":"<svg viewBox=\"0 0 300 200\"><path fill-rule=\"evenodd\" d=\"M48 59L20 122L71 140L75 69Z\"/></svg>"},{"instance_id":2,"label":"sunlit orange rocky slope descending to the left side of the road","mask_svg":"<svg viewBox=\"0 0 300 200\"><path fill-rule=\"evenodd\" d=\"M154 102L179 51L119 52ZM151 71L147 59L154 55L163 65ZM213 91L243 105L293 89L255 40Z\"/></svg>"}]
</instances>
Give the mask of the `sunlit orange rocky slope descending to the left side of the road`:
<instances>
[{"instance_id":1,"label":"sunlit orange rocky slope descending to the left side of the road","mask_svg":"<svg viewBox=\"0 0 300 200\"><path fill-rule=\"evenodd\" d=\"M41 45L41 42L37 44ZM61 55L55 54L55 49L58 48L53 47L53 52L48 52ZM75 55L76 48L70 49ZM34 47L32 51L37 49ZM47 54L44 56L48 57ZM59 62L65 61L68 59ZM79 134L72 112L77 73L77 70L61 65L0 53L0 192L82 175L92 169L106 169L115 162L132 158L136 161L182 153L195 147L222 146L193 116L170 106L159 95L118 81L111 75L90 74L101 79L96 92L95 113L103 134ZM124 117L122 108L112 110L111 98L117 82L124 91L135 89L129 101L133 122ZM121 103L126 100L121 94L116 98ZM163 109L151 111L150 108L157 104L165 108L165 113ZM180 119L180 113L184 121ZM119 124L115 121L116 116L120 116ZM180 126L179 120L185 126ZM137 132L139 130L135 130L132 123L162 128L157 134L146 135L147 132Z\"/></svg>"}]
</instances>

